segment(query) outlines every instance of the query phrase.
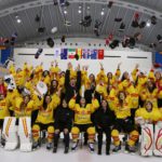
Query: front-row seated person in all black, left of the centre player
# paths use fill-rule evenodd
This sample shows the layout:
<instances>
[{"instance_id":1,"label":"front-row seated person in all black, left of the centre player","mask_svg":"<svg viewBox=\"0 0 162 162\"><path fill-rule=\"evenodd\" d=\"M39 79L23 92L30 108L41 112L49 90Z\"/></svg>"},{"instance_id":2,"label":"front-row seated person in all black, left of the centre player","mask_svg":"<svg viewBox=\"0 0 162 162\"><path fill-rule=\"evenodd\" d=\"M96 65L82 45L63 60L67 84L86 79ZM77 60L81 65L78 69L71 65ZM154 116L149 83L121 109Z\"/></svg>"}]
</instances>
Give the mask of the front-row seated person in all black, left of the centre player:
<instances>
[{"instance_id":1,"label":"front-row seated person in all black, left of the centre player","mask_svg":"<svg viewBox=\"0 0 162 162\"><path fill-rule=\"evenodd\" d=\"M68 108L68 104L63 99L62 105L56 109L55 112L55 133L54 133L54 149L53 152L57 151L58 139L60 132L64 133L65 153L68 153L69 149L69 132L72 125L72 111Z\"/></svg>"}]
</instances>

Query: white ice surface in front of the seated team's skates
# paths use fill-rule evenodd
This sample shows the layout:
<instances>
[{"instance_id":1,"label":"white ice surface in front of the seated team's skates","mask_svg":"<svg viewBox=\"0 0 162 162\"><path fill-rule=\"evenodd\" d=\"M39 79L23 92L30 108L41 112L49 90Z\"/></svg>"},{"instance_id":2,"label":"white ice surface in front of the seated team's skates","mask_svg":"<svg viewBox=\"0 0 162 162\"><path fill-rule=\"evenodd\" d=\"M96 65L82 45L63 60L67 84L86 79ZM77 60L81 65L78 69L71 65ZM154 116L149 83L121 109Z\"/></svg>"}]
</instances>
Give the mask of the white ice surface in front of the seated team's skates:
<instances>
[{"instance_id":1,"label":"white ice surface in front of the seated team's skates","mask_svg":"<svg viewBox=\"0 0 162 162\"><path fill-rule=\"evenodd\" d=\"M21 152L18 149L15 151L5 151L0 148L1 162L161 162L162 158L158 157L140 157L138 153L129 154L122 150L119 153L105 154L105 146L103 147L103 154L97 154L97 149L91 153L87 147L82 149L79 147L75 152L69 151L64 154L64 147L58 147L57 153L52 150L48 151L45 146L32 152Z\"/></svg>"}]
</instances>

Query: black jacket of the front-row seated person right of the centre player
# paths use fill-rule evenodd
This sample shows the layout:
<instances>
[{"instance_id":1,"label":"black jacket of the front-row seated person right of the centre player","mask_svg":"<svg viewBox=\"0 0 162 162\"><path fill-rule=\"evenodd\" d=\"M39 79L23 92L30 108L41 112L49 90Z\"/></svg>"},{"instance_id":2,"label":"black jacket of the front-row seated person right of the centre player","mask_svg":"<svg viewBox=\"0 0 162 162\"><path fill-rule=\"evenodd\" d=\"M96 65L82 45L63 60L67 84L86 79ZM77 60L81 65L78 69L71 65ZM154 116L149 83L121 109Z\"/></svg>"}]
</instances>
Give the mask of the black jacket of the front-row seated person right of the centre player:
<instances>
[{"instance_id":1,"label":"black jacket of the front-row seated person right of the centre player","mask_svg":"<svg viewBox=\"0 0 162 162\"><path fill-rule=\"evenodd\" d=\"M95 125L100 127L107 127L112 126L114 123L116 117L113 111L111 111L109 108L107 108L106 111L100 107L94 117Z\"/></svg>"}]
</instances>

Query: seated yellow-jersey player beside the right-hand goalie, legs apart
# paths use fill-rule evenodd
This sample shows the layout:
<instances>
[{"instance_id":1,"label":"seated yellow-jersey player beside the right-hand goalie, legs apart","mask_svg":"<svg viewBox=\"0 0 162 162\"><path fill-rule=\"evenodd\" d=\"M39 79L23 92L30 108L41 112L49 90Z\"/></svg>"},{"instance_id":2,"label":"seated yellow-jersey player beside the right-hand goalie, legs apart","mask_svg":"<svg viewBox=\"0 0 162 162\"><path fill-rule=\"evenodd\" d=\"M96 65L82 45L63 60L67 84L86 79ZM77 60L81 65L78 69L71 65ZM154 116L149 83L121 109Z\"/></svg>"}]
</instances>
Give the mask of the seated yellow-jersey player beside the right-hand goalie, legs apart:
<instances>
[{"instance_id":1,"label":"seated yellow-jersey player beside the right-hand goalie, legs apart","mask_svg":"<svg viewBox=\"0 0 162 162\"><path fill-rule=\"evenodd\" d=\"M126 96L124 92L119 92L118 97L114 98L113 104L111 104L116 114L116 123L111 132L114 145L112 150L113 152L121 150L121 141L119 138L120 132L129 134L129 140L125 145L125 150L129 152L135 152L135 143L138 139L138 132L135 130L135 125L130 119L132 108L131 103L131 97Z\"/></svg>"}]
</instances>

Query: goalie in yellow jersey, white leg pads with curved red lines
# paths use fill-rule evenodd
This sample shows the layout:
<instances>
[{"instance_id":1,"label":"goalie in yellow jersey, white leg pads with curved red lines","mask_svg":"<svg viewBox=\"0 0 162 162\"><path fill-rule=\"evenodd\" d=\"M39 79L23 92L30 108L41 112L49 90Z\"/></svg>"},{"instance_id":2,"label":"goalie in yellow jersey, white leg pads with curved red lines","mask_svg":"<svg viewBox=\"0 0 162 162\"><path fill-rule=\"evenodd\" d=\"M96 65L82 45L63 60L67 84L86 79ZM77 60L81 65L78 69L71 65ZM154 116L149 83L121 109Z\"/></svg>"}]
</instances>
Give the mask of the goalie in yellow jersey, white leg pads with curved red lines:
<instances>
[{"instance_id":1,"label":"goalie in yellow jersey, white leg pads with curved red lines","mask_svg":"<svg viewBox=\"0 0 162 162\"><path fill-rule=\"evenodd\" d=\"M162 156L161 119L160 109L153 108L151 102L146 102L144 108L136 110L135 121L141 127L141 156Z\"/></svg>"}]
</instances>

